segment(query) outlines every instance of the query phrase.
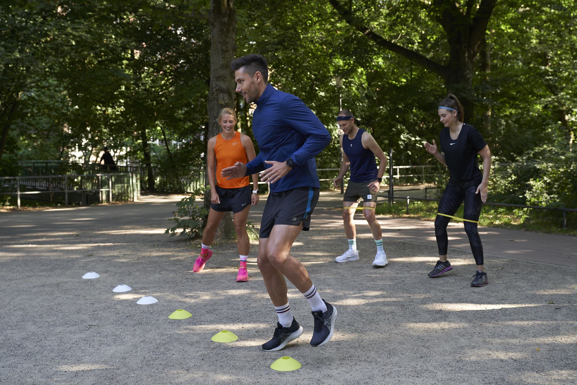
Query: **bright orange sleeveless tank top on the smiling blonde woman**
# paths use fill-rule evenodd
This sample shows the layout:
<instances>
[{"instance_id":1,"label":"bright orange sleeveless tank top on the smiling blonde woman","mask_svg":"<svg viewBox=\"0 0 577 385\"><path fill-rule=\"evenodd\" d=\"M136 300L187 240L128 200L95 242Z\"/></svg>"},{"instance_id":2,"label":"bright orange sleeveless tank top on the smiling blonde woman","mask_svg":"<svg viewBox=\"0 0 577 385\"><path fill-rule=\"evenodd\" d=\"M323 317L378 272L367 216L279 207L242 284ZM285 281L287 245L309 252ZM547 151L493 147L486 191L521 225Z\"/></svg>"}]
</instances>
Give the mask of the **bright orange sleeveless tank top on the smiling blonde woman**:
<instances>
[{"instance_id":1,"label":"bright orange sleeveless tank top on the smiling blonde woman","mask_svg":"<svg viewBox=\"0 0 577 385\"><path fill-rule=\"evenodd\" d=\"M224 139L222 134L218 134L216 136L215 161L216 185L220 188L236 189L239 187L248 186L250 184L249 177L227 180L226 178L222 177L222 175L220 175L220 171L222 171L222 169L234 166L234 163L248 163L245 148L242 147L240 132L235 132L233 139L230 140Z\"/></svg>"}]
</instances>

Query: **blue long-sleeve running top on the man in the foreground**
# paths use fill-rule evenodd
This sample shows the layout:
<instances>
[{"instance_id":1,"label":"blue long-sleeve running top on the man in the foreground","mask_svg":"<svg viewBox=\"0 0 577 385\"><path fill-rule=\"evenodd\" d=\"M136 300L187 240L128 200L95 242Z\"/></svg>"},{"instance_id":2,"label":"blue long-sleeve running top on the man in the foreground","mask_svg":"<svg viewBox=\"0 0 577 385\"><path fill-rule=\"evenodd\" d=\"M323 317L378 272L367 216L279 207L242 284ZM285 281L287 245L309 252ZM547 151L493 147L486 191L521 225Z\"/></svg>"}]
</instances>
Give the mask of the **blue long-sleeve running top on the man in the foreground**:
<instances>
[{"instance_id":1,"label":"blue long-sleeve running top on the man in the foreground","mask_svg":"<svg viewBox=\"0 0 577 385\"><path fill-rule=\"evenodd\" d=\"M271 167L265 160L292 158L295 168L270 185L278 193L297 187L320 187L314 157L331 142L331 135L301 99L268 84L255 102L253 134L259 153L246 164L246 175Z\"/></svg>"}]
</instances>

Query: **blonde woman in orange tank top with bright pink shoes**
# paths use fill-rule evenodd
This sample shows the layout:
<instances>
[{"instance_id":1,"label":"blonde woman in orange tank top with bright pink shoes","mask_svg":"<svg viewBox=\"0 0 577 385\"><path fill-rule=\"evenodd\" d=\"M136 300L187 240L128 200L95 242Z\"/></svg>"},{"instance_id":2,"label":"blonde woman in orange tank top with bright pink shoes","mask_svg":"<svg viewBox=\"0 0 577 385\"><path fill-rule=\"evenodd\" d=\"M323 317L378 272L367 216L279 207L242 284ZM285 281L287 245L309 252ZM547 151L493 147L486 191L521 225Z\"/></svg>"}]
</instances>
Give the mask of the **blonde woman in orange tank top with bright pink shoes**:
<instances>
[{"instance_id":1,"label":"blonde woman in orange tank top with bright pink shoes","mask_svg":"<svg viewBox=\"0 0 577 385\"><path fill-rule=\"evenodd\" d=\"M249 237L246 233L246 218L251 205L258 203L258 178L252 175L253 189L250 189L249 177L227 180L220 170L236 162L248 163L256 154L252 141L245 134L235 131L237 117L233 109L220 111L219 124L222 132L208 140L207 176L211 186L211 210L208 212L207 226L203 232L203 244L200 256L194 262L192 270L204 269L206 261L212 256L208 248L215 238L216 229L224 213L233 212L234 228L237 231L238 255L241 259L238 267L237 282L248 281L246 260L249 255ZM216 168L216 173L215 173ZM252 193L251 193L252 191Z\"/></svg>"}]
</instances>

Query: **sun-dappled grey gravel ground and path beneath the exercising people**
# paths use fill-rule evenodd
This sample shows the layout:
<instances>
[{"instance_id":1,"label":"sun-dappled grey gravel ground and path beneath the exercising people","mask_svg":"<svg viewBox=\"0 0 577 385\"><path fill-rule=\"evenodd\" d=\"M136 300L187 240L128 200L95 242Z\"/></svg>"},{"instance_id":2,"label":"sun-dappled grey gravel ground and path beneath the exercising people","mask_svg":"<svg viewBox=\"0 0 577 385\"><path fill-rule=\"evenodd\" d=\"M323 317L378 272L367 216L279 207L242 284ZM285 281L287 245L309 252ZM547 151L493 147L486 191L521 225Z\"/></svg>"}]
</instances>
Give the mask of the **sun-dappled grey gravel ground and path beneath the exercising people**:
<instances>
[{"instance_id":1,"label":"sun-dappled grey gravel ground and path beneath the exercising people","mask_svg":"<svg viewBox=\"0 0 577 385\"><path fill-rule=\"evenodd\" d=\"M338 309L336 331L309 344L313 317L288 283L304 333L279 352L260 345L277 318L251 245L250 281L235 282L234 244L200 249L164 234L180 196L139 203L0 213L0 384L575 384L577 238L480 229L488 286L471 287L474 260L462 225L449 226L441 278L433 223L379 217L389 265L357 214L361 260L347 248L342 196L321 193L312 230L292 253ZM381 200L384 202L384 200ZM265 197L249 220L260 224ZM82 279L96 271L97 279ZM124 283L127 293L113 293ZM159 301L137 305L142 296ZM192 317L171 320L185 309ZM231 343L211 337L238 335ZM269 366L290 356L292 372Z\"/></svg>"}]
</instances>

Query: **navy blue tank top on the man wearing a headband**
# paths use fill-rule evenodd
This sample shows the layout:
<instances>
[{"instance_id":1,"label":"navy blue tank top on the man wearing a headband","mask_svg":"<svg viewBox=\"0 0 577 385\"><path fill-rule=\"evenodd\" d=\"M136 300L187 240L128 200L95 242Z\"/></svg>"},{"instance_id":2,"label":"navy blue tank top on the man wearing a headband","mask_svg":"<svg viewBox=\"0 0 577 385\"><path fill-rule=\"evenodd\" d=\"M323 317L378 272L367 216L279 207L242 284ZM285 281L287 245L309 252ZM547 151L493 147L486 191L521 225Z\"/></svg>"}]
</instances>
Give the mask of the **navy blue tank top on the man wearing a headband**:
<instances>
[{"instance_id":1,"label":"navy blue tank top on the man wearing a headband","mask_svg":"<svg viewBox=\"0 0 577 385\"><path fill-rule=\"evenodd\" d=\"M366 130L359 128L353 140L343 135L343 151L351 162L351 182L369 182L377 178L377 161L370 149L362 147L362 134Z\"/></svg>"}]
</instances>

